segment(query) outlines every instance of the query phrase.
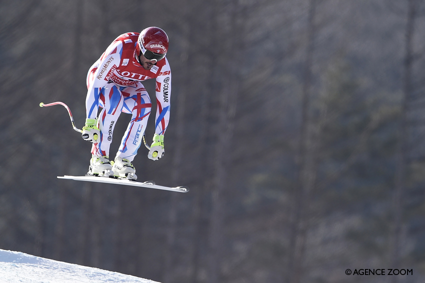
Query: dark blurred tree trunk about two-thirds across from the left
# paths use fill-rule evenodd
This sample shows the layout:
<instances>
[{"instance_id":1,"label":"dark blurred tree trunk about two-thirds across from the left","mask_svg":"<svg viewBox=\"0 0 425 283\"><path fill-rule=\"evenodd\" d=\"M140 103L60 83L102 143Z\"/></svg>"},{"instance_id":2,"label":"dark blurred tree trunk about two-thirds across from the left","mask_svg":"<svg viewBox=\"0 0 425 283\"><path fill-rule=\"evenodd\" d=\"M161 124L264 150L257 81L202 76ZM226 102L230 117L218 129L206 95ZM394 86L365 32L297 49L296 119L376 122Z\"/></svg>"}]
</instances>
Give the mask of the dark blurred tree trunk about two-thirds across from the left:
<instances>
[{"instance_id":1,"label":"dark blurred tree trunk about two-thirds across from the left","mask_svg":"<svg viewBox=\"0 0 425 283\"><path fill-rule=\"evenodd\" d=\"M305 253L306 231L308 224L308 202L310 193L315 183L315 147L316 140L312 137L314 122L311 118L310 88L312 84L312 57L314 51L316 0L309 1L308 11L308 37L307 52L304 69L304 82L302 89L302 120L299 137L298 180L294 194L294 206L290 218L290 236L288 266L285 281L287 283L298 283L302 274L302 264Z\"/></svg>"}]
</instances>

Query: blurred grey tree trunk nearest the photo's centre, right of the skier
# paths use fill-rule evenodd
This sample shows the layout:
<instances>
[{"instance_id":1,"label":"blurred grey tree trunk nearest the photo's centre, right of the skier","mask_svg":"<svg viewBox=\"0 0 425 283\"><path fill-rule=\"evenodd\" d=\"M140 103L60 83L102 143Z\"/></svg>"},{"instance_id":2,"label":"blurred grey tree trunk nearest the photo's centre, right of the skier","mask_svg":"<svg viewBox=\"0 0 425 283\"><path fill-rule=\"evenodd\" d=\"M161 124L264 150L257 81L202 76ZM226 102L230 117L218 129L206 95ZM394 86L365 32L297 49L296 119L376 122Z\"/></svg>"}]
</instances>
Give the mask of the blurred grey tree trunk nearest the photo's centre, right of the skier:
<instances>
[{"instance_id":1,"label":"blurred grey tree trunk nearest the photo's centre, right of the skier","mask_svg":"<svg viewBox=\"0 0 425 283\"><path fill-rule=\"evenodd\" d=\"M240 34L238 26L239 4L237 1L230 1L226 6L226 14L229 25L221 28L224 32L231 36L227 41L221 42L227 50L240 50L238 44L243 44L243 35ZM225 22L220 22L226 24ZM228 29L228 30L226 30ZM221 32L223 32L221 31ZM234 34L238 34L235 36ZM218 35L218 34L217 34ZM224 243L224 216L225 216L225 197L224 191L228 187L227 176L230 168L230 157L232 152L232 138L235 124L236 113L236 97L239 91L239 73L236 68L237 54L233 54L233 63L229 67L226 61L222 61L223 66L227 66L227 75L222 82L222 88L219 93L219 112L218 112L218 131L217 142L214 149L214 167L213 167L213 191L211 195L211 213L210 213L210 230L209 230L209 255L208 255L208 270L210 283L221 282L220 263L223 261L223 245ZM222 54L221 54L222 56ZM223 58L225 59L225 58ZM221 66L221 65L219 65ZM224 68L219 68L222 71ZM218 70L218 69L217 69Z\"/></svg>"}]
</instances>

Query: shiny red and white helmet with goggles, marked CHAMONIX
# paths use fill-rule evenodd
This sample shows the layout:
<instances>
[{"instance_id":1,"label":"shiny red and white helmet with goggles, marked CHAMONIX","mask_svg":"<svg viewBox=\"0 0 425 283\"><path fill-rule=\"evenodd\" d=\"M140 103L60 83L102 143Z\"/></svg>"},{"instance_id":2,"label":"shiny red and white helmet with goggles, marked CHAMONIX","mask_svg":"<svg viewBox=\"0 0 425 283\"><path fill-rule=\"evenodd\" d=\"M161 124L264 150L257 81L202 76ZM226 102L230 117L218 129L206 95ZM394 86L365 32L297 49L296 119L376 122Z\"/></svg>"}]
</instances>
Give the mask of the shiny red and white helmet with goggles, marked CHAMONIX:
<instances>
[{"instance_id":1,"label":"shiny red and white helmet with goggles, marked CHAMONIX","mask_svg":"<svg viewBox=\"0 0 425 283\"><path fill-rule=\"evenodd\" d=\"M146 27L138 36L136 51L148 60L164 58L168 50L168 36L165 31L156 26Z\"/></svg>"}]
</instances>

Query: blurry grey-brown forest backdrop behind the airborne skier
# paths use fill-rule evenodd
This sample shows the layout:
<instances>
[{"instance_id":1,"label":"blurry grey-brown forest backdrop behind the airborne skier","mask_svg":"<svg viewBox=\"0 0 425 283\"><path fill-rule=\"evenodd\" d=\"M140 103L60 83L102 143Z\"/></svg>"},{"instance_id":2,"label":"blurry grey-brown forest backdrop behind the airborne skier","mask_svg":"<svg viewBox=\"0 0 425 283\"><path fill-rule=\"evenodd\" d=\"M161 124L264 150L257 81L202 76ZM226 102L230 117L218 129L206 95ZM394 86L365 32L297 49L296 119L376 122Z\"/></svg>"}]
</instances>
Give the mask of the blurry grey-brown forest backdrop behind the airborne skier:
<instances>
[{"instance_id":1,"label":"blurry grey-brown forest backdrop behind the airborne skier","mask_svg":"<svg viewBox=\"0 0 425 283\"><path fill-rule=\"evenodd\" d=\"M171 119L133 164L190 192L57 179L91 144L39 102L81 128L89 66L152 25ZM423 282L424 52L424 0L2 0L0 248L164 283Z\"/></svg>"}]
</instances>

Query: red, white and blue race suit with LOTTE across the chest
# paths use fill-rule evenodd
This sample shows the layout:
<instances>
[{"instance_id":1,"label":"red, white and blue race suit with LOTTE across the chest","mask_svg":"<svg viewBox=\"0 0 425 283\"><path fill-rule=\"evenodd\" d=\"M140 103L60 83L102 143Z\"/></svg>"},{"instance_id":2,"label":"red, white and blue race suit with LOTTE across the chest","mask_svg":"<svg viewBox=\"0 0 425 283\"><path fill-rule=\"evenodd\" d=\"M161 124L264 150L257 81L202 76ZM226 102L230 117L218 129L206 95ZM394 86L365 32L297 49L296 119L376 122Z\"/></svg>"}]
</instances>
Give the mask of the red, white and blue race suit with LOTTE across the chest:
<instances>
[{"instance_id":1,"label":"red, white and blue race suit with LOTTE across the chest","mask_svg":"<svg viewBox=\"0 0 425 283\"><path fill-rule=\"evenodd\" d=\"M112 132L121 112L131 114L117 156L133 160L142 142L151 101L140 81L156 78L155 133L164 134L169 120L171 70L166 58L144 69L135 50L139 33L118 36L90 67L87 73L86 117L97 117L100 141L93 143L91 154L108 156Z\"/></svg>"}]
</instances>

